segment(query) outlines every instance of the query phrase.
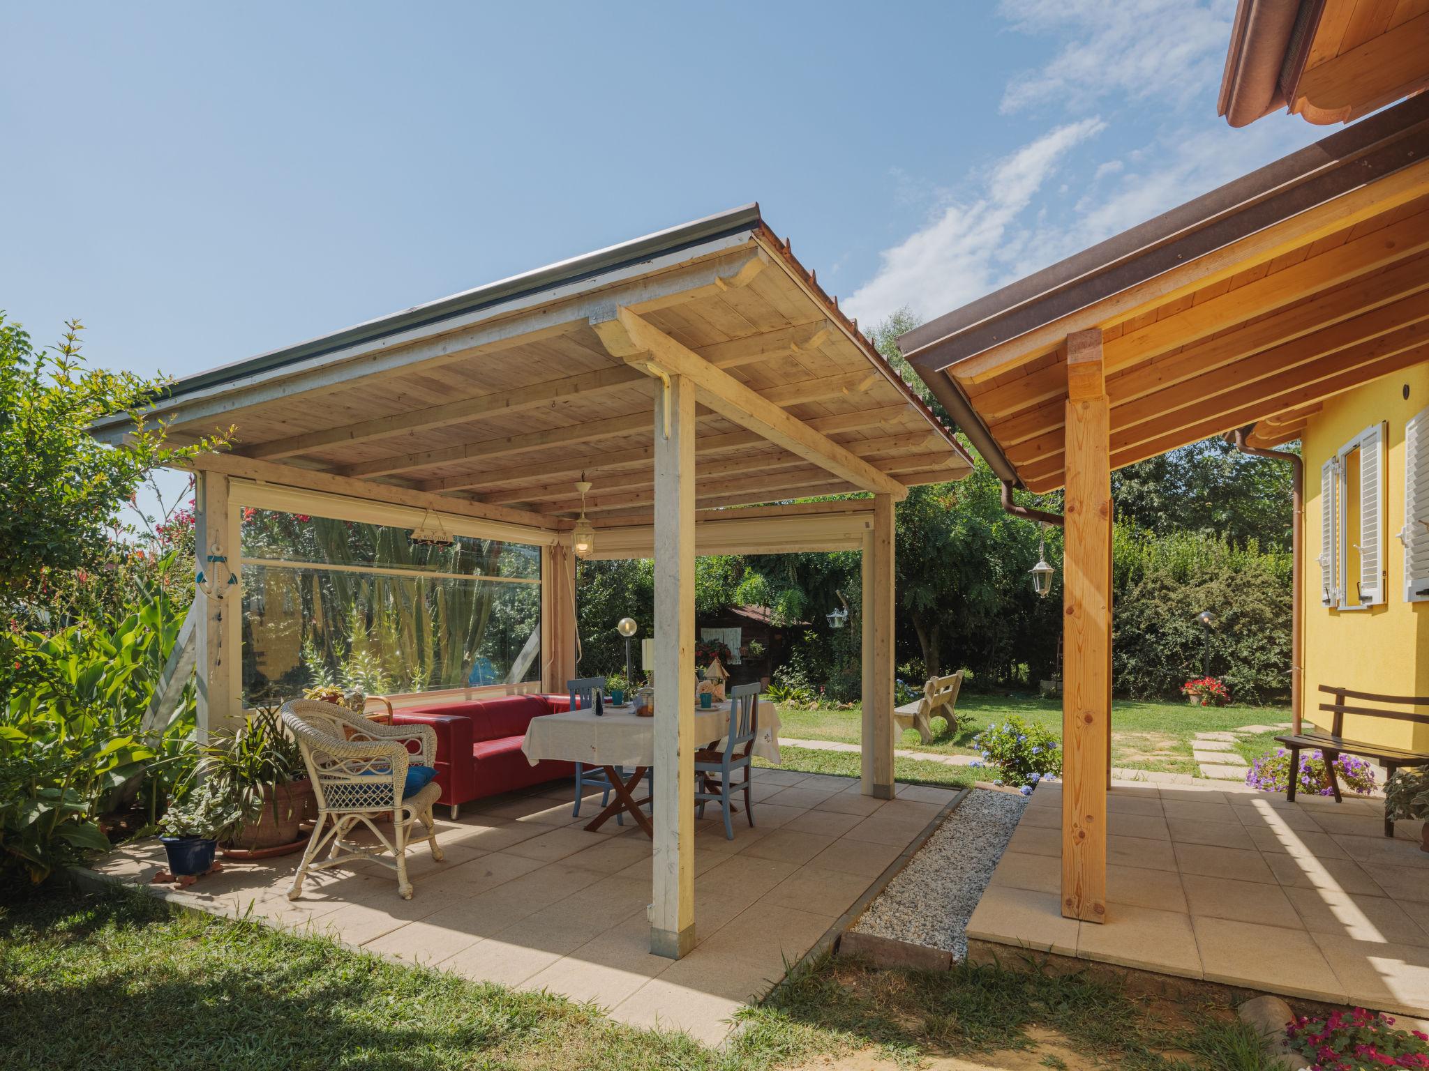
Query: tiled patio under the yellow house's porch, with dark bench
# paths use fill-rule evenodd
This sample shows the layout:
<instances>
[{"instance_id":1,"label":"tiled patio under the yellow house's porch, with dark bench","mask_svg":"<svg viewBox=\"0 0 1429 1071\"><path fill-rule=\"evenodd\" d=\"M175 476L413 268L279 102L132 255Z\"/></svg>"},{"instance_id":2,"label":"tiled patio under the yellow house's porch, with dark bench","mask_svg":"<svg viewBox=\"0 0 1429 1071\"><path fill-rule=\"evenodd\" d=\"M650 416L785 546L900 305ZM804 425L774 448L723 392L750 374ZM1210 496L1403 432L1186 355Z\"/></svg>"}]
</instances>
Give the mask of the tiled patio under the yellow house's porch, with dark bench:
<instances>
[{"instance_id":1,"label":"tiled patio under the yellow house's porch, with dark bench","mask_svg":"<svg viewBox=\"0 0 1429 1071\"><path fill-rule=\"evenodd\" d=\"M1037 788L967 935L1289 997L1429 1015L1429 854L1382 803L1116 785L1107 921L1060 912L1060 788ZM1169 840L1117 835L1165 814ZM1143 825L1142 833L1150 827Z\"/></svg>"}]
</instances>

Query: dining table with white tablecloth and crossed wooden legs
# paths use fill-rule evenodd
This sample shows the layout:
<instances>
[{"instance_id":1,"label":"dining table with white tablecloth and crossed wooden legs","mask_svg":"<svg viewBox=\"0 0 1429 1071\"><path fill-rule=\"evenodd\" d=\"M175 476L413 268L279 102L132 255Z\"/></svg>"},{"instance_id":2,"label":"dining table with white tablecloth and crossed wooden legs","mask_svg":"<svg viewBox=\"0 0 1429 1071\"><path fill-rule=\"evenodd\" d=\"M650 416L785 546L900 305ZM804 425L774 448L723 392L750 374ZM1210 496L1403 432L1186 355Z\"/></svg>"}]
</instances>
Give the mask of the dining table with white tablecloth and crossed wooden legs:
<instances>
[{"instance_id":1,"label":"dining table with white tablecloth and crossed wooden legs","mask_svg":"<svg viewBox=\"0 0 1429 1071\"><path fill-rule=\"evenodd\" d=\"M729 700L714 701L709 707L700 707L692 700L694 708L694 747L725 747L729 738ZM606 805L586 830L594 833L617 814L629 814L636 825L644 830L646 835L654 837L654 827L649 815L640 810L650 803L650 797L636 798L634 793L640 787L642 778L654 765L654 720L660 717L659 710L653 717L639 717L634 704L627 703L616 707L604 704L604 714L596 714L590 707L582 710L560 711L557 714L543 714L532 718L522 741L522 751L532 765L546 760L563 763L584 763L604 770L610 780L610 791L614 800ZM773 703L762 701L756 710L755 740L750 754L769 763L779 764L779 711ZM634 773L626 774L624 770Z\"/></svg>"}]
</instances>

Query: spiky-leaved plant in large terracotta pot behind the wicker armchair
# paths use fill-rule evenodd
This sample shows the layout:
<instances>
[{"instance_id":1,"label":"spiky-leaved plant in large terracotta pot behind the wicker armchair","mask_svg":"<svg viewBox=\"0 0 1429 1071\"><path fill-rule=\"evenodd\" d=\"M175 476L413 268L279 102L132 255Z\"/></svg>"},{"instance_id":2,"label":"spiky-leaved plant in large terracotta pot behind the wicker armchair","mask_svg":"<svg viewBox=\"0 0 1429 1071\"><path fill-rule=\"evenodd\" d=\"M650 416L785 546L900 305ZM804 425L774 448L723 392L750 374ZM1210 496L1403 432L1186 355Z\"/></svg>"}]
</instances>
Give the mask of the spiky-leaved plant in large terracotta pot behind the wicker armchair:
<instances>
[{"instance_id":1,"label":"spiky-leaved plant in large terracotta pot behind the wicker armchair","mask_svg":"<svg viewBox=\"0 0 1429 1071\"><path fill-rule=\"evenodd\" d=\"M199 775L226 794L243 818L226 838L224 855L263 858L302 850L300 823L309 814L313 784L277 708L260 708L237 734L204 748Z\"/></svg>"}]
</instances>

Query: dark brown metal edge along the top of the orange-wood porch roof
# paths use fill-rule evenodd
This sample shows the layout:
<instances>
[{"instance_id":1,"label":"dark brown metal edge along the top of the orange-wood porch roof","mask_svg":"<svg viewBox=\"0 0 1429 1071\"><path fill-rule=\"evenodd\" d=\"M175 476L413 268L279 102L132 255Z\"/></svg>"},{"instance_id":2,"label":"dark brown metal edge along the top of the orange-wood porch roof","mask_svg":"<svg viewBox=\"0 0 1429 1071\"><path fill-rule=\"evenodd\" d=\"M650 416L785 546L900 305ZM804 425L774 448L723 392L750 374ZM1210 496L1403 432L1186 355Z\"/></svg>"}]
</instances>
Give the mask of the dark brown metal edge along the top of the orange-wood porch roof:
<instances>
[{"instance_id":1,"label":"dark brown metal edge along the top of the orange-wood porch roof","mask_svg":"<svg viewBox=\"0 0 1429 1071\"><path fill-rule=\"evenodd\" d=\"M1429 94L1422 94L915 327L899 348L920 371L946 368L1426 154Z\"/></svg>"}]
</instances>

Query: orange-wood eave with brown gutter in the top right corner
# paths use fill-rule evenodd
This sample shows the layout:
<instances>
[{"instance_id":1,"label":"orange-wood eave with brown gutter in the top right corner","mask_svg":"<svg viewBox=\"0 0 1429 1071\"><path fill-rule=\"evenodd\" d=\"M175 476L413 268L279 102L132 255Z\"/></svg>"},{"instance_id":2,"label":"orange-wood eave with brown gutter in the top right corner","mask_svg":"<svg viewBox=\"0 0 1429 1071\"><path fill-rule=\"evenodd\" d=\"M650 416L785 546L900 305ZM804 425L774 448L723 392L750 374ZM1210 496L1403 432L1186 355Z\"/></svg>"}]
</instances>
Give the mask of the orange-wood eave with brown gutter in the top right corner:
<instances>
[{"instance_id":1,"label":"orange-wood eave with brown gutter in the top right corner","mask_svg":"<svg viewBox=\"0 0 1429 1071\"><path fill-rule=\"evenodd\" d=\"M1429 0L1240 0L1220 114L1349 123L1429 86L1426 57Z\"/></svg>"}]
</instances>

